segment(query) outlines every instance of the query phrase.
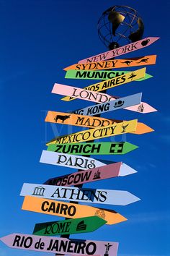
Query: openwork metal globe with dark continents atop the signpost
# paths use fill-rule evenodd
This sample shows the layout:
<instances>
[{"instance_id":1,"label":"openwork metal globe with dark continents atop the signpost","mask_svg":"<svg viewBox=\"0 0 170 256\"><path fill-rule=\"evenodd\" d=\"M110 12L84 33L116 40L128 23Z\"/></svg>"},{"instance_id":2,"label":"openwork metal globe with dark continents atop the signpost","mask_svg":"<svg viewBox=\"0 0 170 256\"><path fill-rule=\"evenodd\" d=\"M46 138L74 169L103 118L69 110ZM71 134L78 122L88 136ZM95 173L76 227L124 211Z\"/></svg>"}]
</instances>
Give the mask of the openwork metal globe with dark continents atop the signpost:
<instances>
[{"instance_id":1,"label":"openwork metal globe with dark continents atop the signpost","mask_svg":"<svg viewBox=\"0 0 170 256\"><path fill-rule=\"evenodd\" d=\"M115 5L102 13L97 30L102 43L113 49L142 39L144 24L135 9Z\"/></svg>"}]
</instances>

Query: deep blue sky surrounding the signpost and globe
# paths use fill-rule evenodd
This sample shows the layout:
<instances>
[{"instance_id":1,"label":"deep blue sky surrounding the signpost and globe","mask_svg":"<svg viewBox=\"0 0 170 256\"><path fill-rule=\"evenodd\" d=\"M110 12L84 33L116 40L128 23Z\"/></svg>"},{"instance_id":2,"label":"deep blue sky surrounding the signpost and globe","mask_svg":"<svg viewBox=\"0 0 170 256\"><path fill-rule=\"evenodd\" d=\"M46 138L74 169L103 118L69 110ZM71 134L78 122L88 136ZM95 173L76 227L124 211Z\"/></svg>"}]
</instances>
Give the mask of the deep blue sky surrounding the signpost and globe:
<instances>
[{"instance_id":1,"label":"deep blue sky surrounding the signpost and globe","mask_svg":"<svg viewBox=\"0 0 170 256\"><path fill-rule=\"evenodd\" d=\"M54 82L84 87L88 80L64 79L64 67L79 59L107 51L97 35L97 20L115 4L138 9L146 25L145 37L160 36L152 46L128 56L157 54L156 66L147 67L153 78L111 89L108 93L131 95L143 92L143 101L158 109L153 114L115 111L103 117L136 119L155 129L146 135L124 135L111 141L126 140L138 145L127 155L112 156L138 171L137 174L109 179L86 187L128 190L141 198L117 210L128 221L103 226L94 233L74 238L120 242L119 256L169 256L169 8L161 1L0 1L0 107L1 107L1 221L0 236L11 233L32 234L35 223L61 218L21 210L19 192L24 182L43 183L54 176L73 172L39 163L45 142L55 135L79 131L79 127L45 124L45 113L74 110L88 106L81 100L66 103L50 93ZM123 58L123 56L122 56ZM109 139L107 139L109 141ZM111 160L110 156L102 156ZM102 159L101 158L101 159ZM84 186L85 187L85 186ZM101 206L101 205L94 205ZM1 256L47 255L10 249L0 243Z\"/></svg>"}]
</instances>

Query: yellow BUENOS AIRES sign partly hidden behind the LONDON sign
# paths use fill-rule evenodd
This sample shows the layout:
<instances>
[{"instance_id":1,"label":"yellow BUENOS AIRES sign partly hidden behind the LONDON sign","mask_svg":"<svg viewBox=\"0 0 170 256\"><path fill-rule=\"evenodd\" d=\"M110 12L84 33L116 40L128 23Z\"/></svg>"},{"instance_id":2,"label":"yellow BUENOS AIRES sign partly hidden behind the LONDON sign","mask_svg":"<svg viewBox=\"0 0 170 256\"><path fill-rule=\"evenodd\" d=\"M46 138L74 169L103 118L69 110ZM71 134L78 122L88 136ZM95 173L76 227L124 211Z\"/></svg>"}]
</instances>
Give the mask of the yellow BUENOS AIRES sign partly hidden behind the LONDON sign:
<instances>
[{"instance_id":1,"label":"yellow BUENOS AIRES sign partly hidden behind the LONDON sign","mask_svg":"<svg viewBox=\"0 0 170 256\"><path fill-rule=\"evenodd\" d=\"M137 69L134 72L128 72L126 74L122 74L119 77L114 77L109 80L97 82L96 84L86 86L84 89L95 91L95 92L101 92L102 90L115 88L116 86L124 85L128 82L138 80L140 78L145 77L145 75L146 75L146 67L144 67L143 69ZM62 101L71 101L74 99L75 98L73 98L73 97L66 96L66 97L62 98L61 100Z\"/></svg>"}]
</instances>

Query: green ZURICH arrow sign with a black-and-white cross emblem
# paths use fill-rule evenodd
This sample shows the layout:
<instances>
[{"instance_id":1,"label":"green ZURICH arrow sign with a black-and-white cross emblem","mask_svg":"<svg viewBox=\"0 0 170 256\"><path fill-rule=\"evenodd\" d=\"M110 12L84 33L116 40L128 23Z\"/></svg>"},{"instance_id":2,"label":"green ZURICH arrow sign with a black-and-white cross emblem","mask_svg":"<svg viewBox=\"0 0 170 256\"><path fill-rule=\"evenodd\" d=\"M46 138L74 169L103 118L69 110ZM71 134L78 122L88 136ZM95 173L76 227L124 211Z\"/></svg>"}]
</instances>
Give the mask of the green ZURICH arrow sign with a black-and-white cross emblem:
<instances>
[{"instance_id":1,"label":"green ZURICH arrow sign with a black-and-white cross emblem","mask_svg":"<svg viewBox=\"0 0 170 256\"><path fill-rule=\"evenodd\" d=\"M137 124L138 127L138 124ZM57 153L66 153L71 155L122 155L138 146L129 142L92 142L92 143L68 143L68 144L50 144L49 151Z\"/></svg>"}]
</instances>

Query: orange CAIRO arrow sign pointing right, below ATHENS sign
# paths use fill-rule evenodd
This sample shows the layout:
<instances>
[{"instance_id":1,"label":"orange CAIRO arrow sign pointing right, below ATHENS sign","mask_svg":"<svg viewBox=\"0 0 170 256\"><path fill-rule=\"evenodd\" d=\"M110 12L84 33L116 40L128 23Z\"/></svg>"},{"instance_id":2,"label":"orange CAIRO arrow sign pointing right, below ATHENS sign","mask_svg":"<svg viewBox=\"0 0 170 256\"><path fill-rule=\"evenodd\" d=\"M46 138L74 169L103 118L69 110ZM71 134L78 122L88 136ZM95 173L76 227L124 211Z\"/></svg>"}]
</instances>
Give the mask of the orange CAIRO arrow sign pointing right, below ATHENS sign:
<instances>
[{"instance_id":1,"label":"orange CAIRO arrow sign pointing right, below ATHENS sign","mask_svg":"<svg viewBox=\"0 0 170 256\"><path fill-rule=\"evenodd\" d=\"M30 195L24 197L22 210L30 210L35 213L45 213L65 218L98 216L107 221L108 225L127 221L127 218L121 216L119 213L115 212L115 210L106 210L70 202L47 200L39 197L31 197Z\"/></svg>"}]
</instances>

